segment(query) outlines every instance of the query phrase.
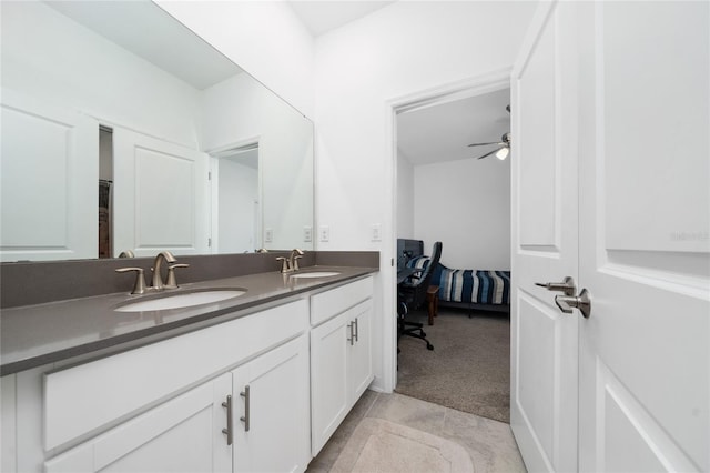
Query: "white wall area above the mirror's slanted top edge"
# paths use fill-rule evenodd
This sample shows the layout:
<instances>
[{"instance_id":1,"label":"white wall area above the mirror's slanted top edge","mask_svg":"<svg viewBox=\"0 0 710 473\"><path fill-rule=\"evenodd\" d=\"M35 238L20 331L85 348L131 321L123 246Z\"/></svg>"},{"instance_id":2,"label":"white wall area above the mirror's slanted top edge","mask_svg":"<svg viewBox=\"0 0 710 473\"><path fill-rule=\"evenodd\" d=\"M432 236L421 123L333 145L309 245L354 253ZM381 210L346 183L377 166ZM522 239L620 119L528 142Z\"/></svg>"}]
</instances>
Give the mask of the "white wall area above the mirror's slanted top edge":
<instances>
[{"instance_id":1,"label":"white wall area above the mirror's slanted top edge","mask_svg":"<svg viewBox=\"0 0 710 473\"><path fill-rule=\"evenodd\" d=\"M313 118L314 40L286 2L155 0L155 3Z\"/></svg>"}]
</instances>

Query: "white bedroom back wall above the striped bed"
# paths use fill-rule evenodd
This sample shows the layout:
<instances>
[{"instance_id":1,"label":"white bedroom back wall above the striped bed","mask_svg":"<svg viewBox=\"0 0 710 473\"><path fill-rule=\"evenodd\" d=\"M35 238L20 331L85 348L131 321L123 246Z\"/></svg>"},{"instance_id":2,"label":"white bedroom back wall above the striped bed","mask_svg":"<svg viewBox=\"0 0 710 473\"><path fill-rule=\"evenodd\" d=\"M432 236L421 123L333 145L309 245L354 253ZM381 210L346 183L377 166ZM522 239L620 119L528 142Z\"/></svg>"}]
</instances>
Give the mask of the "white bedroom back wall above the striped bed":
<instances>
[{"instance_id":1,"label":"white bedroom back wall above the striped bed","mask_svg":"<svg viewBox=\"0 0 710 473\"><path fill-rule=\"evenodd\" d=\"M510 269L510 159L417 165L414 188L426 189L414 194L414 233L426 254L440 241L445 266Z\"/></svg>"}]
</instances>

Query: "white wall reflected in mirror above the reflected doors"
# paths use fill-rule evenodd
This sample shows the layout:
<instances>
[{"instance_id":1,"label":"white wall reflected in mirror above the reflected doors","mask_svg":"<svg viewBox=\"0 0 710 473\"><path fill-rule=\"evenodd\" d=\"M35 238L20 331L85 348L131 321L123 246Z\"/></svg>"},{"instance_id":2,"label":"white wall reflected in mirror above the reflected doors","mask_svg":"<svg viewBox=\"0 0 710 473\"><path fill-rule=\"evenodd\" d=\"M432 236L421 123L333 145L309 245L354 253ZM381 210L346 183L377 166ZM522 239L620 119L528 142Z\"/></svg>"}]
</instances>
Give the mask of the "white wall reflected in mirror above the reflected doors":
<instances>
[{"instance_id":1,"label":"white wall reflected in mirror above the reflected doors","mask_svg":"<svg viewBox=\"0 0 710 473\"><path fill-rule=\"evenodd\" d=\"M197 147L196 89L41 2L2 3L2 87Z\"/></svg>"}]
</instances>

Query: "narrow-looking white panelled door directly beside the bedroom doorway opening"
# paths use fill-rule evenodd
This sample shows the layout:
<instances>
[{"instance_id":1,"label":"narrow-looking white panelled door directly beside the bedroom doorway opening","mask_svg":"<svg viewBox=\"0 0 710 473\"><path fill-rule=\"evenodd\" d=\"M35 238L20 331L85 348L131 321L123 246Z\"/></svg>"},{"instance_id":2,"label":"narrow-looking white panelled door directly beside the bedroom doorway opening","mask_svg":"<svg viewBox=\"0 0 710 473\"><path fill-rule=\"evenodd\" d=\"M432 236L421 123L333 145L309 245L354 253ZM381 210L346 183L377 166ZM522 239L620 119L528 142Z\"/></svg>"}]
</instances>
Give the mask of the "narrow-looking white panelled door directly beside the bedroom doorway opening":
<instances>
[{"instance_id":1,"label":"narrow-looking white panelled door directly beside the bedroom doorway opening","mask_svg":"<svg viewBox=\"0 0 710 473\"><path fill-rule=\"evenodd\" d=\"M510 424L530 471L577 469L577 334L555 293L578 279L575 16L538 9L511 74Z\"/></svg>"}]
</instances>

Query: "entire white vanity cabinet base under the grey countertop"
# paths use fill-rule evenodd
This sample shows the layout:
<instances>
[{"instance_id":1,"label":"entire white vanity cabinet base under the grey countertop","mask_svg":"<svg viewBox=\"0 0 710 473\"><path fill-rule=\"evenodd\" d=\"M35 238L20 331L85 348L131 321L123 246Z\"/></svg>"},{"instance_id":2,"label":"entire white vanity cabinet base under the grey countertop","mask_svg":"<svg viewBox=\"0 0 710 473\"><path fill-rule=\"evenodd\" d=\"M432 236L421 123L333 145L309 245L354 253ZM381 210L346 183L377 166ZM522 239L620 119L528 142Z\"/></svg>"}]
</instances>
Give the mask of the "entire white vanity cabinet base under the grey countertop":
<instances>
[{"instance_id":1,"label":"entire white vanity cabinet base under the grey countertop","mask_svg":"<svg viewBox=\"0 0 710 473\"><path fill-rule=\"evenodd\" d=\"M366 276L3 376L2 471L303 472L373 380L372 298Z\"/></svg>"}]
</instances>

